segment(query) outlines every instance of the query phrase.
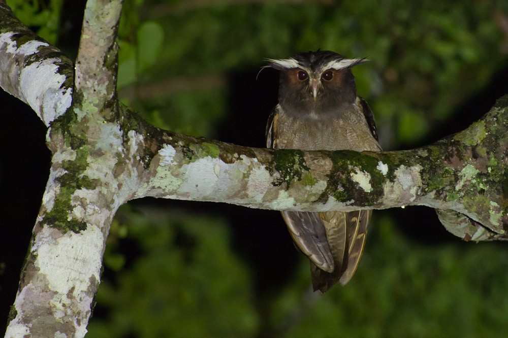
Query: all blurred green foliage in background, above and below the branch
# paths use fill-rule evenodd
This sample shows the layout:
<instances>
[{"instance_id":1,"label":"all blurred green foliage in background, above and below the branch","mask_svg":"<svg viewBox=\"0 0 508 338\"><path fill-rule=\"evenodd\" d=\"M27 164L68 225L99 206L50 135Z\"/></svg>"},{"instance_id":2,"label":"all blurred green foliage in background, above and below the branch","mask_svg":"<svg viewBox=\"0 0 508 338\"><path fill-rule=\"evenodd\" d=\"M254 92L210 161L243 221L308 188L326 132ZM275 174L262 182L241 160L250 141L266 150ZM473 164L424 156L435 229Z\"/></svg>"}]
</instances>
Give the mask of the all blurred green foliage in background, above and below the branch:
<instances>
[{"instance_id":1,"label":"all blurred green foliage in background, above and below the branch","mask_svg":"<svg viewBox=\"0 0 508 338\"><path fill-rule=\"evenodd\" d=\"M8 3L23 22L57 41L57 0ZM264 58L321 48L371 60L354 73L382 145L411 146L461 118L454 110L508 60L508 36L499 22L508 16L505 0L124 4L120 97L151 123L197 136L215 137L226 118L231 73L257 70ZM225 218L178 210L138 214L124 206L108 238L109 273L97 295L98 311L106 315L92 318L87 336L504 334L506 249L424 244L394 224L388 214L374 213L364 258L346 287L312 294L308 261L301 257L291 283L273 296L267 290L272 299L262 308L253 299L249 266L231 249ZM139 252L125 257L122 243Z\"/></svg>"}]
</instances>

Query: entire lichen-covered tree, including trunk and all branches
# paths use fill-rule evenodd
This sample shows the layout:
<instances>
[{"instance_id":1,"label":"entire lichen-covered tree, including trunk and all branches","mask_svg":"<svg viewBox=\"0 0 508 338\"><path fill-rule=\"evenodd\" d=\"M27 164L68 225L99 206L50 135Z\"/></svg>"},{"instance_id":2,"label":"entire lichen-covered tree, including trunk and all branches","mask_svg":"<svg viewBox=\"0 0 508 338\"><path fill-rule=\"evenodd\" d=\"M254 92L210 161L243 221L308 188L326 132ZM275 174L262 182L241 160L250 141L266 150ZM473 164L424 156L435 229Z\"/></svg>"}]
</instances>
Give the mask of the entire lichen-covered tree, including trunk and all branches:
<instances>
[{"instance_id":1,"label":"entire lichen-covered tree, including trunk and all branches","mask_svg":"<svg viewBox=\"0 0 508 338\"><path fill-rule=\"evenodd\" d=\"M76 75L0 2L0 85L49 126L53 158L6 336L82 337L111 220L144 196L249 208L424 205L464 240L504 240L508 96L466 130L408 151L240 147L149 125L116 98L121 1L88 1ZM73 87L74 84L74 87Z\"/></svg>"}]
</instances>

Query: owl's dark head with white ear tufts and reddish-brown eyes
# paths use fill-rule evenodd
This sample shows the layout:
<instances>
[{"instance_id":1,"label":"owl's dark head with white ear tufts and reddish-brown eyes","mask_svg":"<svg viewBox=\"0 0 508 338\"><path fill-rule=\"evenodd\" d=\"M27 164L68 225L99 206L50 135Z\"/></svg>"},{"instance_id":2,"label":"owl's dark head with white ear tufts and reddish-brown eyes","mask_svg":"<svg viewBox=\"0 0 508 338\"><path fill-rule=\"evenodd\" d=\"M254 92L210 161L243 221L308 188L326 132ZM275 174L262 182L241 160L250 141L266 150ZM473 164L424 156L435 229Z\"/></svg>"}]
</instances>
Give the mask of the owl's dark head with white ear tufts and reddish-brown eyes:
<instances>
[{"instance_id":1,"label":"owl's dark head with white ear tufts and reddish-brown eyes","mask_svg":"<svg viewBox=\"0 0 508 338\"><path fill-rule=\"evenodd\" d=\"M331 51L268 59L269 66L281 71L279 104L301 116L324 116L353 104L356 86L351 67L364 61Z\"/></svg>"}]
</instances>

